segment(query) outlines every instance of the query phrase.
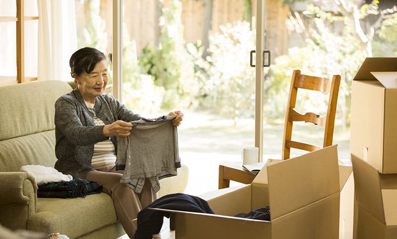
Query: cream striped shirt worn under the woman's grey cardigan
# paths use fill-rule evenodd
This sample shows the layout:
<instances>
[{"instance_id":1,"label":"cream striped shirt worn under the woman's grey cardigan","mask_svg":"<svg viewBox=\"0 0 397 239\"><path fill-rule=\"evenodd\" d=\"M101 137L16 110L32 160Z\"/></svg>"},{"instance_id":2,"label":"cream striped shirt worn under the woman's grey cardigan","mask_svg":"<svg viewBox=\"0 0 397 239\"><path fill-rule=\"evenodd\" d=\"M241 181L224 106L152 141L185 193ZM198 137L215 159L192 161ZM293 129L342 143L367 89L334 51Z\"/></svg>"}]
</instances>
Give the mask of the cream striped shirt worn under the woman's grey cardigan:
<instances>
[{"instance_id":1,"label":"cream striped shirt worn under the woman's grey cardigan","mask_svg":"<svg viewBox=\"0 0 397 239\"><path fill-rule=\"evenodd\" d=\"M95 114L94 112L94 104L88 103L85 101L85 105L88 110ZM105 125L105 123L94 116L95 125ZM94 144L94 154L92 155L91 167L99 168L104 166L109 166L114 164L116 161L116 150L115 145L110 140L104 140Z\"/></svg>"}]
</instances>

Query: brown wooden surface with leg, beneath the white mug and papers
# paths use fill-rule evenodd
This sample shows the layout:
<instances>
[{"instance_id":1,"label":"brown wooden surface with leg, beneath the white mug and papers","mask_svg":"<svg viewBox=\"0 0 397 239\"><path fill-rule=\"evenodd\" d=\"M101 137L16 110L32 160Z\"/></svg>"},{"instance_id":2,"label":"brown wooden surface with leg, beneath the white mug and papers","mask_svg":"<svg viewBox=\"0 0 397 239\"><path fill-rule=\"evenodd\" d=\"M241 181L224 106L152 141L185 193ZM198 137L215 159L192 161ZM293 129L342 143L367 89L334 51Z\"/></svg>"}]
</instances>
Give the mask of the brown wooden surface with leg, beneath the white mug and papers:
<instances>
[{"instance_id":1,"label":"brown wooden surface with leg, beneath the white mug and papers","mask_svg":"<svg viewBox=\"0 0 397 239\"><path fill-rule=\"evenodd\" d=\"M255 176L253 173L244 170L242 164L219 165L218 188L229 187L230 180L249 184L255 179Z\"/></svg>"}]
</instances>

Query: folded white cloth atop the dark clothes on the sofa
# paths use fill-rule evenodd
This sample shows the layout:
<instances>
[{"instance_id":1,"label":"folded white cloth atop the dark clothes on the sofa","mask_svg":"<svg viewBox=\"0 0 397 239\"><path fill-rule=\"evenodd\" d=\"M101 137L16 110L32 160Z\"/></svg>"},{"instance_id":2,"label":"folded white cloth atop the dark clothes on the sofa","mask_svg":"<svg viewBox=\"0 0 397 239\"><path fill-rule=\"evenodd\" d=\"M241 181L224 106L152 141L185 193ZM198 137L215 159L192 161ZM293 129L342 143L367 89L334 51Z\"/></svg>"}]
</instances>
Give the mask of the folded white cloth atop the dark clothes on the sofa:
<instances>
[{"instance_id":1,"label":"folded white cloth atop the dark clothes on the sofa","mask_svg":"<svg viewBox=\"0 0 397 239\"><path fill-rule=\"evenodd\" d=\"M48 182L70 181L73 179L71 175L64 175L52 167L42 165L25 165L21 167L20 171L31 174L39 186Z\"/></svg>"}]
</instances>

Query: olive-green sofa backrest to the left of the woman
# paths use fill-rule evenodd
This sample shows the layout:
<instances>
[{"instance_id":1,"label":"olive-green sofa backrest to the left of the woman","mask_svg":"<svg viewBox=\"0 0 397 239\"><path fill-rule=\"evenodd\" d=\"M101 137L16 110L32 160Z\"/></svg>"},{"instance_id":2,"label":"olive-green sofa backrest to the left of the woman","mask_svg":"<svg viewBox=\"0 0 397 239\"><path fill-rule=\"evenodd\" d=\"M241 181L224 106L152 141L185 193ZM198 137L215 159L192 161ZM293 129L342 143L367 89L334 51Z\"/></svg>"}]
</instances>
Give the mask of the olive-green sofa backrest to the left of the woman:
<instances>
[{"instance_id":1,"label":"olive-green sofa backrest to the left of the woman","mask_svg":"<svg viewBox=\"0 0 397 239\"><path fill-rule=\"evenodd\" d=\"M0 171L54 167L55 101L72 90L59 80L0 86Z\"/></svg>"}]
</instances>

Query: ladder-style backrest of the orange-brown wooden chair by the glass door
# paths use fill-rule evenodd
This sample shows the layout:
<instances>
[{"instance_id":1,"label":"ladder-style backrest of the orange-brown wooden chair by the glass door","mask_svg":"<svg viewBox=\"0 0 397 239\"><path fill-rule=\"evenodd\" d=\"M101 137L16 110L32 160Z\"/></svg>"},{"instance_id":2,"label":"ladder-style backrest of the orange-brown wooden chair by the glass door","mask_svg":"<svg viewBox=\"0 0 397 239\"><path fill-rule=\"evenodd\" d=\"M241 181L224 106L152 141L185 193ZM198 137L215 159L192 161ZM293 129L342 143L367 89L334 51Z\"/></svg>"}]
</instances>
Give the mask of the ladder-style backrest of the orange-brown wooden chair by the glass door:
<instances>
[{"instance_id":1,"label":"ladder-style backrest of the orange-brown wooden chair by the glass door","mask_svg":"<svg viewBox=\"0 0 397 239\"><path fill-rule=\"evenodd\" d=\"M305 121L324 127L323 147L332 145L333 129L335 123L336 105L340 85L340 75L333 75L332 79L317 76L303 75L300 70L294 70L292 74L291 86L285 113L284 138L282 145L282 159L289 159L290 149L301 149L305 151L315 151L321 147L291 140L294 121ZM327 115L320 117L315 113L301 114L296 111L298 88L314 90L328 93L329 102Z\"/></svg>"}]
</instances>

